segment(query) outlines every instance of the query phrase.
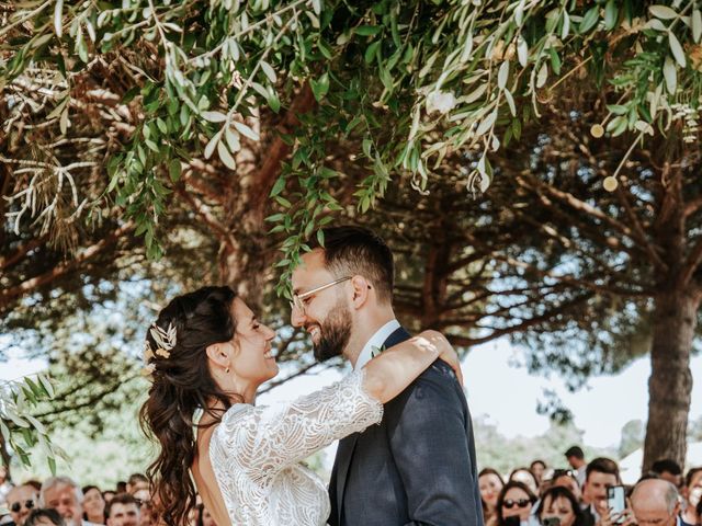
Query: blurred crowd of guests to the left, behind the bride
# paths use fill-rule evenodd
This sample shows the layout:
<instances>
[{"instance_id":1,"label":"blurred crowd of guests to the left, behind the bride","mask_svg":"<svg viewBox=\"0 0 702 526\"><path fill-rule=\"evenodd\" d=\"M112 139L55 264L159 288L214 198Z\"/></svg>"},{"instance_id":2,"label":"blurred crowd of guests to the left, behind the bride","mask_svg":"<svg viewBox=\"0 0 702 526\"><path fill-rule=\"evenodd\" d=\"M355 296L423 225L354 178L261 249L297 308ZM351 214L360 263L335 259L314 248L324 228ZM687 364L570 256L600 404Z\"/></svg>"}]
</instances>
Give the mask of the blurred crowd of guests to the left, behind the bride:
<instances>
[{"instance_id":1,"label":"blurred crowd of guests to the left, behind the bride","mask_svg":"<svg viewBox=\"0 0 702 526\"><path fill-rule=\"evenodd\" d=\"M95 485L80 487L70 477L50 477L12 485L0 467L0 501L4 514L0 525L8 526L162 526L144 474L135 473L114 490ZM188 525L217 526L200 503L192 510Z\"/></svg>"}]
</instances>

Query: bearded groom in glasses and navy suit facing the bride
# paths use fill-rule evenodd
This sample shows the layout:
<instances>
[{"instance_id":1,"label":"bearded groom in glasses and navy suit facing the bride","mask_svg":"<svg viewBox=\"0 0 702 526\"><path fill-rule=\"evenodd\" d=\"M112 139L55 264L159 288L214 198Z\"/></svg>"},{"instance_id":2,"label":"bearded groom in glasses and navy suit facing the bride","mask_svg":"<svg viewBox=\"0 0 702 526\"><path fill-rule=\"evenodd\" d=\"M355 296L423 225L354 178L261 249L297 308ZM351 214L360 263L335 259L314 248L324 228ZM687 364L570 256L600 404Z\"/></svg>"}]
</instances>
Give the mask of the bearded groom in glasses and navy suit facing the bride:
<instances>
[{"instance_id":1,"label":"bearded groom in glasses and navy suit facing the bride","mask_svg":"<svg viewBox=\"0 0 702 526\"><path fill-rule=\"evenodd\" d=\"M393 253L360 227L324 230L293 273L292 322L315 357L354 369L410 338L393 312ZM471 414L453 370L437 361L385 404L383 421L339 443L331 526L483 526Z\"/></svg>"}]
</instances>

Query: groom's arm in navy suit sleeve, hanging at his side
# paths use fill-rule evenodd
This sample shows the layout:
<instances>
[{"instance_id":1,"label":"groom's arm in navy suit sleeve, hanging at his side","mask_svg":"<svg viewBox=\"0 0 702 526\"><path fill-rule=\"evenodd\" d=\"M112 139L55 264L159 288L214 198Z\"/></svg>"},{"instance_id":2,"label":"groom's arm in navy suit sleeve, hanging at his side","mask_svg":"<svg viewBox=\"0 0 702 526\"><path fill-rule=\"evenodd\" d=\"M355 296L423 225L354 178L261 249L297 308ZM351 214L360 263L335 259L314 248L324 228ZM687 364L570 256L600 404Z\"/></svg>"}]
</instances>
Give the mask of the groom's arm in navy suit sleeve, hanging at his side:
<instances>
[{"instance_id":1,"label":"groom's arm in navy suit sleeve, hanging at his side","mask_svg":"<svg viewBox=\"0 0 702 526\"><path fill-rule=\"evenodd\" d=\"M442 365L386 404L390 449L407 494L406 526L482 526L469 415Z\"/></svg>"}]
</instances>

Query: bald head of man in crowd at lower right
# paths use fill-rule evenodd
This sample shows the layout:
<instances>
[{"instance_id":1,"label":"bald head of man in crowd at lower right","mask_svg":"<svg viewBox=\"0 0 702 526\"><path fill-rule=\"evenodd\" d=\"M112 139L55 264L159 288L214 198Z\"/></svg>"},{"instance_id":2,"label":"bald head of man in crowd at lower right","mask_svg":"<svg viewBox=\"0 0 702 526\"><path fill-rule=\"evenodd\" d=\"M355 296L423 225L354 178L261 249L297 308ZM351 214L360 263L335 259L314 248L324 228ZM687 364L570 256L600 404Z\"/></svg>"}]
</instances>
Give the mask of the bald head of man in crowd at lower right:
<instances>
[{"instance_id":1,"label":"bald head of man in crowd at lower right","mask_svg":"<svg viewBox=\"0 0 702 526\"><path fill-rule=\"evenodd\" d=\"M676 526L680 502L676 487L663 479L638 482L631 498L638 526Z\"/></svg>"}]
</instances>

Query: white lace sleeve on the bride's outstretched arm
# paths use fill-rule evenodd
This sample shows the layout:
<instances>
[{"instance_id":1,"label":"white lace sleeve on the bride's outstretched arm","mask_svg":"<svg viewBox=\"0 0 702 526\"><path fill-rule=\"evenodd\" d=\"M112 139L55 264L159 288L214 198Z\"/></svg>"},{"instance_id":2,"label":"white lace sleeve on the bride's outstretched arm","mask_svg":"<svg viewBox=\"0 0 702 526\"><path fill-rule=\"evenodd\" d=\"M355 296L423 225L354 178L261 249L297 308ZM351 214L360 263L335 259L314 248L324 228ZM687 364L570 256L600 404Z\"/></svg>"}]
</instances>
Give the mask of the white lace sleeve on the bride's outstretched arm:
<instances>
[{"instance_id":1,"label":"white lace sleeve on the bride's outstretched arm","mask_svg":"<svg viewBox=\"0 0 702 526\"><path fill-rule=\"evenodd\" d=\"M249 474L272 476L383 419L383 404L363 388L363 369L282 405L229 410L215 436Z\"/></svg>"}]
</instances>

